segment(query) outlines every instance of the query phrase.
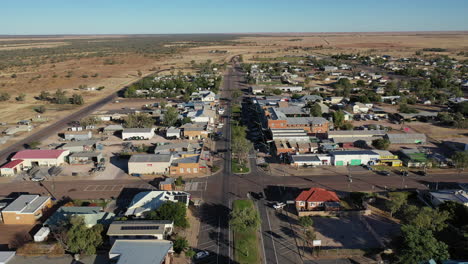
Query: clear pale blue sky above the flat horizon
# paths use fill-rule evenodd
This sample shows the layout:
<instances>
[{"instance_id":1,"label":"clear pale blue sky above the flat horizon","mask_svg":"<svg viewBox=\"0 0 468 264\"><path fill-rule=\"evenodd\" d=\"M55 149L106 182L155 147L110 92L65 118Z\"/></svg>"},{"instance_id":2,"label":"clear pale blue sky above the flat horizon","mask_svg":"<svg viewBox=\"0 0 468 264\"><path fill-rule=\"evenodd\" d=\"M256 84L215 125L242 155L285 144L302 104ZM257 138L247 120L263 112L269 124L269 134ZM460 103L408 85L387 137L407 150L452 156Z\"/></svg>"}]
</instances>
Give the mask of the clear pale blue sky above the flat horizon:
<instances>
[{"instance_id":1,"label":"clear pale blue sky above the flat horizon","mask_svg":"<svg viewBox=\"0 0 468 264\"><path fill-rule=\"evenodd\" d=\"M468 0L5 0L0 34L468 30Z\"/></svg>"}]
</instances>

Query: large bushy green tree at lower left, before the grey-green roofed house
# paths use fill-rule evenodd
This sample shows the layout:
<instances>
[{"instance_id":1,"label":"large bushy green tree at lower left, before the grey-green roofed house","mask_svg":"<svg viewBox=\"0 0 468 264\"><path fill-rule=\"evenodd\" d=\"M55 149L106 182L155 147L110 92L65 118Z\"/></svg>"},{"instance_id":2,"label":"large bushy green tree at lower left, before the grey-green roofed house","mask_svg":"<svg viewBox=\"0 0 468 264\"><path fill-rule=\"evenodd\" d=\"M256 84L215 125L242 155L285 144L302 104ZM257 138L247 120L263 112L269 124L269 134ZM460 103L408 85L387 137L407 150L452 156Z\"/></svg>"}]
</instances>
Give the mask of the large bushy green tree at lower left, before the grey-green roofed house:
<instances>
[{"instance_id":1,"label":"large bushy green tree at lower left, before the grey-green roofed house","mask_svg":"<svg viewBox=\"0 0 468 264\"><path fill-rule=\"evenodd\" d=\"M96 254L96 248L102 245L104 228L97 224L87 228L83 217L74 216L68 222L55 228L52 233L63 248L73 254Z\"/></svg>"}]
</instances>

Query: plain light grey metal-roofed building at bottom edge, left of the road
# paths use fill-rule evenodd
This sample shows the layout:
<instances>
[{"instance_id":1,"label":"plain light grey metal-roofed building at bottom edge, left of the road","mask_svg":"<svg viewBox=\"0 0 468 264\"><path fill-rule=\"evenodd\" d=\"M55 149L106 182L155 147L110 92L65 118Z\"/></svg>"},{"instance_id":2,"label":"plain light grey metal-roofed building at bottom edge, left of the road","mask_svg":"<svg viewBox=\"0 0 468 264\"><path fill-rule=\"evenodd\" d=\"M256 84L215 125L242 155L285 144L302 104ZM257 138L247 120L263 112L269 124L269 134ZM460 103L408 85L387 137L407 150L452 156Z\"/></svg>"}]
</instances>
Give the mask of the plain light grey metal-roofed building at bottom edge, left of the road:
<instances>
[{"instance_id":1,"label":"plain light grey metal-roofed building at bottom edge, left of the road","mask_svg":"<svg viewBox=\"0 0 468 264\"><path fill-rule=\"evenodd\" d=\"M117 240L109 260L115 264L170 264L173 254L168 240Z\"/></svg>"}]
</instances>

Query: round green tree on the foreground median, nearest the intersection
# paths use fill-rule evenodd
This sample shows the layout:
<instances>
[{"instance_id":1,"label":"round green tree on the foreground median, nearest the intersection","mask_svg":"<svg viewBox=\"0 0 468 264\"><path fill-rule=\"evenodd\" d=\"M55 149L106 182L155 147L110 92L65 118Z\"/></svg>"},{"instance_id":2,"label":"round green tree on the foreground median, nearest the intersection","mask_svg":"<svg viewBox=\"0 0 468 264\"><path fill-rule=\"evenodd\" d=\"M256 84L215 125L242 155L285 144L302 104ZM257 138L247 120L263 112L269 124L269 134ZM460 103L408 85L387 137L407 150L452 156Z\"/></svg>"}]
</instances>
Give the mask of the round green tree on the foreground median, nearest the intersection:
<instances>
[{"instance_id":1,"label":"round green tree on the foreground median, nearest the intersection","mask_svg":"<svg viewBox=\"0 0 468 264\"><path fill-rule=\"evenodd\" d=\"M235 232L256 230L260 226L260 216L253 207L234 207L230 213L229 224Z\"/></svg>"}]
</instances>

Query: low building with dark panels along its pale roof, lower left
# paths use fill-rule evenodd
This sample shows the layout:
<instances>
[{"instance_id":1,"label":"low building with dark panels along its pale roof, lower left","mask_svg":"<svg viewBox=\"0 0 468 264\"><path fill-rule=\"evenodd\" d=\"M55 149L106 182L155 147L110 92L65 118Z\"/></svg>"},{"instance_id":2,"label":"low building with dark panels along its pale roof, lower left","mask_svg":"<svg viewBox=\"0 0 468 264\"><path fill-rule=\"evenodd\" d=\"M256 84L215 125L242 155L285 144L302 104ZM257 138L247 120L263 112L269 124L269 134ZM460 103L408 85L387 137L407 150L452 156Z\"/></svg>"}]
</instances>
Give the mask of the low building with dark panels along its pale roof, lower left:
<instances>
[{"instance_id":1,"label":"low building with dark panels along its pale roof, lower left","mask_svg":"<svg viewBox=\"0 0 468 264\"><path fill-rule=\"evenodd\" d=\"M174 229L174 222L169 220L133 220L114 221L109 225L107 236L110 244L116 240L167 239Z\"/></svg>"}]
</instances>

